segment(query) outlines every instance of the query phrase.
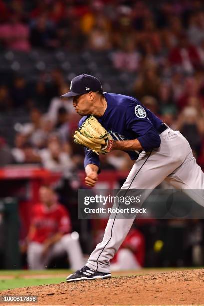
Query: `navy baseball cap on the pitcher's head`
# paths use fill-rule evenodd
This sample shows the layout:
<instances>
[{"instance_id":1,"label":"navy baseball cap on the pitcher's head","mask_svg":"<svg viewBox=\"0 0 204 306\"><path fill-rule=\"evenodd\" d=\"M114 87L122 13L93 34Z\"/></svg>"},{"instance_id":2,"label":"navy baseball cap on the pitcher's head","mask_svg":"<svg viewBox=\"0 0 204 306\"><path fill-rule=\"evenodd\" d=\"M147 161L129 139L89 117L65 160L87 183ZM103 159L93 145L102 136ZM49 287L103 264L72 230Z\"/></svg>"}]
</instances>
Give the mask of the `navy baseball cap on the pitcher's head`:
<instances>
[{"instance_id":1,"label":"navy baseball cap on the pitcher's head","mask_svg":"<svg viewBox=\"0 0 204 306\"><path fill-rule=\"evenodd\" d=\"M73 97L90 91L102 91L101 82L92 75L81 74L72 79L70 91L61 95L61 97Z\"/></svg>"}]
</instances>

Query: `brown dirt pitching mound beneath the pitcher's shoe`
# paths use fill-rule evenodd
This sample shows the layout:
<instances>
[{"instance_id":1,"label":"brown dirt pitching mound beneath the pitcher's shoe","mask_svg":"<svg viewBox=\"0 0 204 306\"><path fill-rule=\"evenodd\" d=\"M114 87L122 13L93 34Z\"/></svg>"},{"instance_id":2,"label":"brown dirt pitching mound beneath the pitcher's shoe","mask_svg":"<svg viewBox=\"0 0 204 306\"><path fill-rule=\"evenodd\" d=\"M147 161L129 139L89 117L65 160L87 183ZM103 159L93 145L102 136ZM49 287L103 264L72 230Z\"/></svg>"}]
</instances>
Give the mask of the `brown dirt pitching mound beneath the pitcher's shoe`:
<instances>
[{"instance_id":1,"label":"brown dirt pitching mound beneath the pitcher's shoe","mask_svg":"<svg viewBox=\"0 0 204 306\"><path fill-rule=\"evenodd\" d=\"M62 282L0 295L37 295L39 305L197 305L204 304L204 269Z\"/></svg>"}]
</instances>

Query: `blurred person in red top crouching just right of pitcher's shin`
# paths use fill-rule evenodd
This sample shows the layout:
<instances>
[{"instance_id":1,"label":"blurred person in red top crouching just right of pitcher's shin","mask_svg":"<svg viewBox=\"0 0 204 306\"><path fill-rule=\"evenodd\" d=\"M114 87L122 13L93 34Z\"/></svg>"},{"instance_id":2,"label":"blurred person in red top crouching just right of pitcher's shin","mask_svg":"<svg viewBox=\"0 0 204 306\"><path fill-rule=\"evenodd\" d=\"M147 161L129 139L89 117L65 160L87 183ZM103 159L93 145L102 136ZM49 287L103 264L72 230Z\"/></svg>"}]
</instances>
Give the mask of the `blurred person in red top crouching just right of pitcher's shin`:
<instances>
[{"instance_id":1,"label":"blurred person in red top crouching just right of pitcher's shin","mask_svg":"<svg viewBox=\"0 0 204 306\"><path fill-rule=\"evenodd\" d=\"M144 265L145 241L143 234L132 228L111 264L112 271L137 270Z\"/></svg>"}]
</instances>

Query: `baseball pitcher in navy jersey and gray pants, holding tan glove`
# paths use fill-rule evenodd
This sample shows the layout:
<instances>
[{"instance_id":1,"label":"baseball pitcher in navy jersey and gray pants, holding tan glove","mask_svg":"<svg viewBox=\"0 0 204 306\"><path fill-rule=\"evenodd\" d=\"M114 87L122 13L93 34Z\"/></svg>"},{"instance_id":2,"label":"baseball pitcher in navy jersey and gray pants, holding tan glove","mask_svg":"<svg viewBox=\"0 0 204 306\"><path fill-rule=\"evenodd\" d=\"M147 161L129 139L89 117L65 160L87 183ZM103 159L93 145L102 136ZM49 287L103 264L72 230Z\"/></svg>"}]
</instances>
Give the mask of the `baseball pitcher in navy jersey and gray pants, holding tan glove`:
<instances>
[{"instance_id":1,"label":"baseball pitcher in navy jersey and gray pants, holding tan glove","mask_svg":"<svg viewBox=\"0 0 204 306\"><path fill-rule=\"evenodd\" d=\"M165 179L175 188L204 189L204 173L188 141L134 97L103 92L100 81L87 74L76 76L70 92L62 97L72 97L75 111L82 116L74 141L85 147L87 186L93 187L98 180L99 154L122 150L135 160L122 189L154 189ZM204 206L203 196L195 191L188 193ZM110 260L133 221L110 218L102 242L67 282L110 278Z\"/></svg>"}]
</instances>

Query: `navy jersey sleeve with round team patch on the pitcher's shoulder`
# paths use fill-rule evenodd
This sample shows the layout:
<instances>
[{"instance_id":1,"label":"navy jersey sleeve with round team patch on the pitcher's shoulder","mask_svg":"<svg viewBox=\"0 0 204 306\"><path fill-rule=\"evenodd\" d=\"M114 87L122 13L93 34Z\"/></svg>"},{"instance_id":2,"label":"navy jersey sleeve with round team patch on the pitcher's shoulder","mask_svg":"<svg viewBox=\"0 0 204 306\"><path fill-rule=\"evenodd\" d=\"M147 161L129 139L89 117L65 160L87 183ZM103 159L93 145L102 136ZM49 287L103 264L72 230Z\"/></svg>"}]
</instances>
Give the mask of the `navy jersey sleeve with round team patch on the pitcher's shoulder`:
<instances>
[{"instance_id":1,"label":"navy jersey sleeve with round team patch on the pitcher's shoulder","mask_svg":"<svg viewBox=\"0 0 204 306\"><path fill-rule=\"evenodd\" d=\"M148 117L147 110L140 104L134 104L126 111L127 129L135 133L142 148L148 152L160 146L160 136Z\"/></svg>"}]
</instances>

